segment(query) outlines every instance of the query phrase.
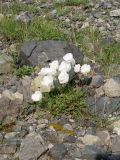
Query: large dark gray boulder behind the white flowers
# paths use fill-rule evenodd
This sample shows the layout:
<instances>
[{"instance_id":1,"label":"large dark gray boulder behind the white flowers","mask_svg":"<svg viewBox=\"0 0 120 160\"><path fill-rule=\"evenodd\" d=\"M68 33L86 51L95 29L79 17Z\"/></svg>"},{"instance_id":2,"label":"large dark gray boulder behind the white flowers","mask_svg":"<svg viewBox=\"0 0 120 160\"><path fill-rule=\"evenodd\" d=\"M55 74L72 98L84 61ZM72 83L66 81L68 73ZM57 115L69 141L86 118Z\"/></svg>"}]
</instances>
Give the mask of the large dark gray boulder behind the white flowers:
<instances>
[{"instance_id":1,"label":"large dark gray boulder behind the white flowers","mask_svg":"<svg viewBox=\"0 0 120 160\"><path fill-rule=\"evenodd\" d=\"M79 48L64 41L30 41L23 44L18 63L20 65L46 65L53 60L61 60L66 53L73 53L77 63L83 62Z\"/></svg>"}]
</instances>

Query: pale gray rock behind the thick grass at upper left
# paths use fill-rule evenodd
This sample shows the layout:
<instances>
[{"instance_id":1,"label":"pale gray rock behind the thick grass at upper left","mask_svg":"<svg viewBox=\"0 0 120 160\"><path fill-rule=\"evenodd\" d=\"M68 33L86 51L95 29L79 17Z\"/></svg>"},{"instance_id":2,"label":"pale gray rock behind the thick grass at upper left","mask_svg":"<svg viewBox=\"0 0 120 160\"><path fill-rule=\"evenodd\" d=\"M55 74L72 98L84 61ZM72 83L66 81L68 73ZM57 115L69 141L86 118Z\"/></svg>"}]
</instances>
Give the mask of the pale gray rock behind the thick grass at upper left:
<instances>
[{"instance_id":1,"label":"pale gray rock behind the thick grass at upper left","mask_svg":"<svg viewBox=\"0 0 120 160\"><path fill-rule=\"evenodd\" d=\"M19 15L16 16L17 21L22 21L25 24L28 24L32 19L32 14L29 12L21 12Z\"/></svg>"}]
</instances>

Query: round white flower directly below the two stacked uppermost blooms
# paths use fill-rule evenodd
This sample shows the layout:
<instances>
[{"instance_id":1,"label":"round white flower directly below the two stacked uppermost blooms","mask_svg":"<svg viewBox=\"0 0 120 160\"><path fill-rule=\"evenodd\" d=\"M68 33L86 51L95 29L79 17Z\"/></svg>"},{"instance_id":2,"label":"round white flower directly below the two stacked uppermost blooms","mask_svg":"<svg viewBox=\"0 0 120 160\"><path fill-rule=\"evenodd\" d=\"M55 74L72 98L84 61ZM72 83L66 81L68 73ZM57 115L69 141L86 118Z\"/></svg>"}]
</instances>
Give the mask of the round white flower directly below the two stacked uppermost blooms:
<instances>
[{"instance_id":1,"label":"round white flower directly below the two stacked uppermost blooms","mask_svg":"<svg viewBox=\"0 0 120 160\"><path fill-rule=\"evenodd\" d=\"M66 84L69 81L69 74L66 71L62 71L59 76L58 80L60 84Z\"/></svg>"}]
</instances>

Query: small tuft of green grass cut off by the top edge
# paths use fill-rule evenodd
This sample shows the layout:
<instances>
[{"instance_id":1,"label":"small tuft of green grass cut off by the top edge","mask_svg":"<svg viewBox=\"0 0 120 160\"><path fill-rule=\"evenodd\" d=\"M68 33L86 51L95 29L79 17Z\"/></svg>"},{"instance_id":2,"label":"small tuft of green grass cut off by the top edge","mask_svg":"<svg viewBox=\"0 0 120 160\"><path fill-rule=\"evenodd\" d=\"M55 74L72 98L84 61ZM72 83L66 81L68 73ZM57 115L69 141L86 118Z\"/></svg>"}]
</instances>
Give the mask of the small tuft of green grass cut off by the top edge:
<instances>
[{"instance_id":1,"label":"small tuft of green grass cut off by the top edge","mask_svg":"<svg viewBox=\"0 0 120 160\"><path fill-rule=\"evenodd\" d=\"M65 0L66 5L87 5L89 0Z\"/></svg>"}]
</instances>

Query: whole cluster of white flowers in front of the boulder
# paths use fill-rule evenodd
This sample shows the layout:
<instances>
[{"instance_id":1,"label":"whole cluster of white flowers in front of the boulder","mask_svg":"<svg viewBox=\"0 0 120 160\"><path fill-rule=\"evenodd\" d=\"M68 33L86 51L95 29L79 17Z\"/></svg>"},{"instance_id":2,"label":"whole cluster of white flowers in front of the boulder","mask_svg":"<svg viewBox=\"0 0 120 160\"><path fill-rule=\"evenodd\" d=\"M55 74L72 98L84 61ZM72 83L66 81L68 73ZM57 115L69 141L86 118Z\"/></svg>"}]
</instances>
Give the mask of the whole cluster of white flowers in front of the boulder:
<instances>
[{"instance_id":1,"label":"whole cluster of white flowers in front of the boulder","mask_svg":"<svg viewBox=\"0 0 120 160\"><path fill-rule=\"evenodd\" d=\"M76 64L73 54L67 53L63 56L63 61L60 64L58 60L55 60L49 64L49 67L40 70L38 73L40 79L39 90L32 94L31 99L34 102L41 101L43 92L50 92L58 84L66 85L70 81L72 73L87 75L90 70L90 65ZM57 85L56 82L58 82Z\"/></svg>"}]
</instances>

